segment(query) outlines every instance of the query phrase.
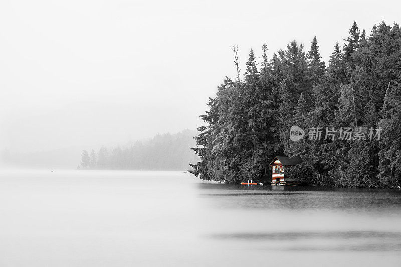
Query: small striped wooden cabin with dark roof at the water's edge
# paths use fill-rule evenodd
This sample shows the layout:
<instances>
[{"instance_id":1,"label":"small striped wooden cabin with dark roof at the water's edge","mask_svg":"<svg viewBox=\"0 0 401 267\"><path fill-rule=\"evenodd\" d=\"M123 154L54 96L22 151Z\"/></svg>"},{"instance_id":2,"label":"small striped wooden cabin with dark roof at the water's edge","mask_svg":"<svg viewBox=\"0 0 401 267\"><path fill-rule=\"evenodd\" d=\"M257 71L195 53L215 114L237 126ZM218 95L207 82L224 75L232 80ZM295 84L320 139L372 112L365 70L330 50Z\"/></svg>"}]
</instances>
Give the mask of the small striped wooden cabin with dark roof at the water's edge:
<instances>
[{"instance_id":1,"label":"small striped wooden cabin with dark roof at the water's edge","mask_svg":"<svg viewBox=\"0 0 401 267\"><path fill-rule=\"evenodd\" d=\"M299 181L294 178L286 177L284 174L284 169L291 166L295 166L301 163L302 160L299 157L286 157L277 156L275 157L270 166L272 166L272 184L297 184Z\"/></svg>"}]
</instances>

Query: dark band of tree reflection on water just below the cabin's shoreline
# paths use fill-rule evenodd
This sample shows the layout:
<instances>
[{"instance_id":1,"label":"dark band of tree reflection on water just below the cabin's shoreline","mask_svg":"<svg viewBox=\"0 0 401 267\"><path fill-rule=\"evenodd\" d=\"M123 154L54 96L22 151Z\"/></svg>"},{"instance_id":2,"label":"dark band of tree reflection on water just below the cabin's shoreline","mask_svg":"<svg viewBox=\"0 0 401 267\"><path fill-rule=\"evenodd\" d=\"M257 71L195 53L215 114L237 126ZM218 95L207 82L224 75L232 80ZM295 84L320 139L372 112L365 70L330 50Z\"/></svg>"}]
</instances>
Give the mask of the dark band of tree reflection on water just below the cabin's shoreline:
<instances>
[{"instance_id":1,"label":"dark band of tree reflection on water just below the cabin's shoreline","mask_svg":"<svg viewBox=\"0 0 401 267\"><path fill-rule=\"evenodd\" d=\"M352 212L378 212L400 214L401 191L397 189L350 189L304 186L241 186L204 183L198 185L202 195L258 196L270 198L214 199L214 206L252 209L336 209ZM208 193L205 193L208 192ZM261 192L263 191L263 192ZM281 197L286 195L286 197ZM294 197L292 197L294 196ZM241 202L241 203L238 203ZM268 201L269 203L266 203Z\"/></svg>"}]
</instances>

